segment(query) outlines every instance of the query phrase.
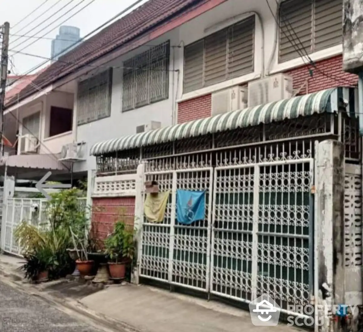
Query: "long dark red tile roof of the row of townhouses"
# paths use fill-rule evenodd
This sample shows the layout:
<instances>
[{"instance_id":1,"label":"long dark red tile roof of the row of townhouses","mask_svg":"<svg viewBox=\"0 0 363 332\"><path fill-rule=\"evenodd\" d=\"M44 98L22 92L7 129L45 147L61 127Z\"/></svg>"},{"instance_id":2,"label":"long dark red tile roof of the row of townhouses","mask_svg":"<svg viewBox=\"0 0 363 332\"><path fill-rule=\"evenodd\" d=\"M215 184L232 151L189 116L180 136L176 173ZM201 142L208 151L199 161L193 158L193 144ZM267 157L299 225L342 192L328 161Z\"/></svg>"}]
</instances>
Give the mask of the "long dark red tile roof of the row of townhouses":
<instances>
[{"instance_id":1,"label":"long dark red tile roof of the row of townhouses","mask_svg":"<svg viewBox=\"0 0 363 332\"><path fill-rule=\"evenodd\" d=\"M66 53L57 62L50 65L46 71L36 77L33 83L40 88L44 88L91 61L134 40L143 33L149 32L152 28L161 25L172 17L181 16L186 11L191 11L208 1L149 0ZM20 99L24 99L36 91L32 85L28 85L22 89ZM6 106L9 107L16 103L16 101L17 98L14 97L9 100Z\"/></svg>"}]
</instances>

